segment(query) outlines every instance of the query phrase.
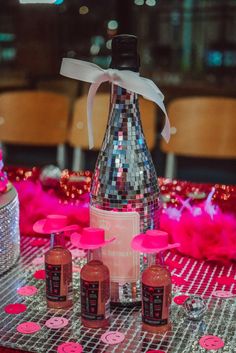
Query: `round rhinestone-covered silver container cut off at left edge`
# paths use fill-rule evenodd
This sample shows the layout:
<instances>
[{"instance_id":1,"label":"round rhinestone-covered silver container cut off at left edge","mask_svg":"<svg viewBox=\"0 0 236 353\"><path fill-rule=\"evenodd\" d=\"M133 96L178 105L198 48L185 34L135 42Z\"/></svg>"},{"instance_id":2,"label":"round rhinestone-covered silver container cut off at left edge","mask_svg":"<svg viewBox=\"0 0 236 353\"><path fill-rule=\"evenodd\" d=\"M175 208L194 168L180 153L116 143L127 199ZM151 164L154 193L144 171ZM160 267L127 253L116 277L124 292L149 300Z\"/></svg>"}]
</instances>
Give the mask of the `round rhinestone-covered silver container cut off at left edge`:
<instances>
[{"instance_id":1,"label":"round rhinestone-covered silver container cut off at left edge","mask_svg":"<svg viewBox=\"0 0 236 353\"><path fill-rule=\"evenodd\" d=\"M20 255L19 200L14 187L0 194L0 274Z\"/></svg>"}]
</instances>

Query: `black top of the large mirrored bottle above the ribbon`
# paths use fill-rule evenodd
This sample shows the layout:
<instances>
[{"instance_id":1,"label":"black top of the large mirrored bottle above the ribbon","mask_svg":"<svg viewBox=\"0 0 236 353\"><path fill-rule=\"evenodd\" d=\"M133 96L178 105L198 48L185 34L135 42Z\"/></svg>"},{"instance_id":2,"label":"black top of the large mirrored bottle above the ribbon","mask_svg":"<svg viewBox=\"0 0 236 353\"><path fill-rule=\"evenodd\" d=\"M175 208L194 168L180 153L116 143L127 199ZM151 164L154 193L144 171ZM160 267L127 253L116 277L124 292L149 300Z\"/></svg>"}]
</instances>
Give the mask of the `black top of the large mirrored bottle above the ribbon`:
<instances>
[{"instance_id":1,"label":"black top of the large mirrored bottle above the ribbon","mask_svg":"<svg viewBox=\"0 0 236 353\"><path fill-rule=\"evenodd\" d=\"M118 70L139 71L140 60L137 52L137 37L120 34L112 39L112 59L110 67Z\"/></svg>"}]
</instances>

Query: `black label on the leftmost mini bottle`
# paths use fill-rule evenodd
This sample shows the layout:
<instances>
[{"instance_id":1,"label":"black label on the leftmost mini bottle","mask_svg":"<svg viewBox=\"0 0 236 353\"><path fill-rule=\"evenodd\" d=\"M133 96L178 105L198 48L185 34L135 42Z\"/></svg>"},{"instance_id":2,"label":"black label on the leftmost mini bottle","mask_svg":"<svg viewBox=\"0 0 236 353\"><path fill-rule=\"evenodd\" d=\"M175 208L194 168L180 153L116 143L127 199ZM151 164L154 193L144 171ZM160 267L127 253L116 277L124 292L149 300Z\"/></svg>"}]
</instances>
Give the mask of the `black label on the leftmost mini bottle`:
<instances>
[{"instance_id":1,"label":"black label on the leftmost mini bottle","mask_svg":"<svg viewBox=\"0 0 236 353\"><path fill-rule=\"evenodd\" d=\"M66 295L61 293L61 280L62 280L61 265L45 264L46 271L46 297L53 302L63 302L67 300Z\"/></svg>"}]
</instances>

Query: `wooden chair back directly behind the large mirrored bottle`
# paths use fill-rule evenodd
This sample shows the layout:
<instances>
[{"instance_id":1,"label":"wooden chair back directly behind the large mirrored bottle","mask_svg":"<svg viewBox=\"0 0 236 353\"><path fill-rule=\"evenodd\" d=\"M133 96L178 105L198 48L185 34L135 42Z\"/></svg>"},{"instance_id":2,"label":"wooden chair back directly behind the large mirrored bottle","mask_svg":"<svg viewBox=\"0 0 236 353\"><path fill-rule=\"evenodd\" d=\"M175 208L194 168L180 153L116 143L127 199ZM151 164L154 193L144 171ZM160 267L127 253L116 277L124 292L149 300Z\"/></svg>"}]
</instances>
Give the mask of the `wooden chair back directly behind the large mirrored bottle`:
<instances>
[{"instance_id":1,"label":"wooden chair back directly behind the large mirrored bottle","mask_svg":"<svg viewBox=\"0 0 236 353\"><path fill-rule=\"evenodd\" d=\"M106 131L109 113L109 93L97 93L93 105L93 131L94 148L100 150L103 137ZM87 95L77 98L74 104L72 124L69 129L68 141L74 148L73 170L83 169L83 150L88 150L88 129L87 129ZM153 102L139 98L142 125L146 141L150 150L156 142L156 106Z\"/></svg>"}]
</instances>

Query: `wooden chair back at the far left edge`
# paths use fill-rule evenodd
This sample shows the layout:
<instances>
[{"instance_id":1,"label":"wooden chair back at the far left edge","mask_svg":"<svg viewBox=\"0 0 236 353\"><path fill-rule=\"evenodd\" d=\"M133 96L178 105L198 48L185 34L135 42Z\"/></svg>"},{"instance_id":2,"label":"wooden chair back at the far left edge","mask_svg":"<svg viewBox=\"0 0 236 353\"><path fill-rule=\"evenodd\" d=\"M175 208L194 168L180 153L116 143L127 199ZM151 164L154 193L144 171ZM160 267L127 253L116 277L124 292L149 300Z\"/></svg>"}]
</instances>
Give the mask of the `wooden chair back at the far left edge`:
<instances>
[{"instance_id":1,"label":"wooden chair back at the far left edge","mask_svg":"<svg viewBox=\"0 0 236 353\"><path fill-rule=\"evenodd\" d=\"M46 91L0 94L0 141L35 146L57 146L57 162L65 167L69 99Z\"/></svg>"}]
</instances>

